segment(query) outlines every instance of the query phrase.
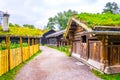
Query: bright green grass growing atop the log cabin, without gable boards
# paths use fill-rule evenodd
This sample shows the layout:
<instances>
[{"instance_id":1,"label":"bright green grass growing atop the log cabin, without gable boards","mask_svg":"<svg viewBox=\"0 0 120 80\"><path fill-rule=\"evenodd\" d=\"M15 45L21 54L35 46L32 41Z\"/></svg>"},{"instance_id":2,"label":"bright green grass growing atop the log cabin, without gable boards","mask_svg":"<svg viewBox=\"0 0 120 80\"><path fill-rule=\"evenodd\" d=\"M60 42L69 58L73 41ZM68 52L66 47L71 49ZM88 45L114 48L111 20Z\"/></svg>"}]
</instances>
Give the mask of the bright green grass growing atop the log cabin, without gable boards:
<instances>
[{"instance_id":1,"label":"bright green grass growing atop the log cabin, without gable boards","mask_svg":"<svg viewBox=\"0 0 120 80\"><path fill-rule=\"evenodd\" d=\"M81 22L88 25L88 27L94 26L120 26L120 14L92 14L92 13L80 13L76 16Z\"/></svg>"}]
</instances>

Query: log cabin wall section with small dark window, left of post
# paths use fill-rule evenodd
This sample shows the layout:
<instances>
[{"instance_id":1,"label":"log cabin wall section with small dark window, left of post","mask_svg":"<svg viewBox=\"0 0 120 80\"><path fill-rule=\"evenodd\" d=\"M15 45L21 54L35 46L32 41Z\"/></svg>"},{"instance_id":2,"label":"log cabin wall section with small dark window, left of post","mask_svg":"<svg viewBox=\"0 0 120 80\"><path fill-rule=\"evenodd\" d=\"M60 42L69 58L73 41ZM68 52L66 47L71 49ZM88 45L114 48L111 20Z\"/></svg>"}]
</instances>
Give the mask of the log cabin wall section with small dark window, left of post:
<instances>
[{"instance_id":1,"label":"log cabin wall section with small dark window, left of post","mask_svg":"<svg viewBox=\"0 0 120 80\"><path fill-rule=\"evenodd\" d=\"M79 55L80 58L87 60L88 54L87 54L87 36L84 34L81 34L85 30L78 26L76 31L74 32L74 40L73 40L73 53Z\"/></svg>"}]
</instances>

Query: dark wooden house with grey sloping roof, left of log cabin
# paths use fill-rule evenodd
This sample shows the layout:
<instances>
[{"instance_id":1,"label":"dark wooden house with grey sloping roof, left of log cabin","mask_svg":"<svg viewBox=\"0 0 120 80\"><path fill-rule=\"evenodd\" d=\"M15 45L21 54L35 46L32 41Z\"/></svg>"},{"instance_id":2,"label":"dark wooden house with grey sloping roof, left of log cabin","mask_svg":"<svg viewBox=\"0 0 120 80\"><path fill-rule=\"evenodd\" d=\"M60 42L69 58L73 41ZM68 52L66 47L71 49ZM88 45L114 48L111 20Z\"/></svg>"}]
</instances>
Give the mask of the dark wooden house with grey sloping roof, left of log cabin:
<instances>
[{"instance_id":1,"label":"dark wooden house with grey sloping roof, left of log cabin","mask_svg":"<svg viewBox=\"0 0 120 80\"><path fill-rule=\"evenodd\" d=\"M61 30L58 32L55 32L53 34L47 35L47 45L52 46L65 46L67 45L67 41L63 38L65 30Z\"/></svg>"}]
</instances>

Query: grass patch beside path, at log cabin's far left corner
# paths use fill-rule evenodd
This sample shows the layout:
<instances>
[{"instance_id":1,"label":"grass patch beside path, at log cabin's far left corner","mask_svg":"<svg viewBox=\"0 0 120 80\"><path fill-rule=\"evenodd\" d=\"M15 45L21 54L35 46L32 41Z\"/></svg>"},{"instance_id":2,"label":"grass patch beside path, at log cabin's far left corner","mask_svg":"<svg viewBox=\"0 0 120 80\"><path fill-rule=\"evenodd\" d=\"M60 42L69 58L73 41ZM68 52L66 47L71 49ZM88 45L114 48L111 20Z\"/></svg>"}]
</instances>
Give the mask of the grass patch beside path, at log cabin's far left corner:
<instances>
[{"instance_id":1,"label":"grass patch beside path, at log cabin's far left corner","mask_svg":"<svg viewBox=\"0 0 120 80\"><path fill-rule=\"evenodd\" d=\"M57 49L61 52L64 52L66 56L71 56L70 55L70 52L69 52L69 48L70 46L60 46L60 47L54 47L54 46L49 46L50 48L54 48L54 49Z\"/></svg>"}]
</instances>

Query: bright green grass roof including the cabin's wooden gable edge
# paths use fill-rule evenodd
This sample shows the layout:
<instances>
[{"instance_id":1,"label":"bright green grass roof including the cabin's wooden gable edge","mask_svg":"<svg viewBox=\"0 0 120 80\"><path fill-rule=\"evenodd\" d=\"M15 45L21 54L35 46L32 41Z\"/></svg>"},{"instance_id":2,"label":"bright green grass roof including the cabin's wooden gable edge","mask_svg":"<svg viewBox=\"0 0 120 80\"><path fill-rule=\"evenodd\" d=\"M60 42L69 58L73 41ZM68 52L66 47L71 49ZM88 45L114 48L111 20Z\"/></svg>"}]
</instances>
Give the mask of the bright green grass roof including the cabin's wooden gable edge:
<instances>
[{"instance_id":1,"label":"bright green grass roof including the cabin's wooden gable edge","mask_svg":"<svg viewBox=\"0 0 120 80\"><path fill-rule=\"evenodd\" d=\"M76 20L79 22L82 27L85 26L88 30L92 30L95 26L114 26L119 27L120 26L120 14L92 14L92 13L80 13L77 15L74 15L70 18L68 21L68 25L66 27L66 33L64 34L64 37L67 36L71 22ZM75 22L76 22L75 21ZM77 23L76 22L76 23ZM83 26L84 25L84 26Z\"/></svg>"}]
</instances>

